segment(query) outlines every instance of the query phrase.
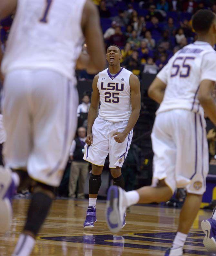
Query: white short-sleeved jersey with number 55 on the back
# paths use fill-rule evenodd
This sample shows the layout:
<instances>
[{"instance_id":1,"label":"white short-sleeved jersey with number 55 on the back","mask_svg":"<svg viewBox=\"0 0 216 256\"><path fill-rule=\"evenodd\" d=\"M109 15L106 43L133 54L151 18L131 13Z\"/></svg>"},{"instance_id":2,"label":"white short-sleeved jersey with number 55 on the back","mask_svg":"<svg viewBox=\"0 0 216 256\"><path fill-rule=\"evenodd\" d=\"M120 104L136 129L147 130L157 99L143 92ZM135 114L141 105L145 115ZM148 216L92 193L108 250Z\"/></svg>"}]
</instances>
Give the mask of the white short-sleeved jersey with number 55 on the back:
<instances>
[{"instance_id":1,"label":"white short-sleeved jersey with number 55 on the back","mask_svg":"<svg viewBox=\"0 0 216 256\"><path fill-rule=\"evenodd\" d=\"M196 41L176 52L157 77L167 84L157 114L186 109L203 115L198 90L201 81L216 81L216 52L209 43Z\"/></svg>"}]
</instances>

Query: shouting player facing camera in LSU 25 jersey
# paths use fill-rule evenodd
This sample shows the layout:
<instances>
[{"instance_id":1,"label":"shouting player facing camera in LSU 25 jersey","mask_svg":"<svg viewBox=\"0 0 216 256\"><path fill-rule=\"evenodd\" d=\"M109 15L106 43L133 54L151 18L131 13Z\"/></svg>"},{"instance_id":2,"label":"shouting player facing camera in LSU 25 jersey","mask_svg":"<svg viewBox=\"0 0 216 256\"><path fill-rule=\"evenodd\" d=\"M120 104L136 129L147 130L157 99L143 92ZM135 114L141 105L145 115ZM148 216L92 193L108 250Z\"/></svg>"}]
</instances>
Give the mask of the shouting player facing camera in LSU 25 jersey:
<instances>
[{"instance_id":1,"label":"shouting player facing camera in LSU 25 jersey","mask_svg":"<svg viewBox=\"0 0 216 256\"><path fill-rule=\"evenodd\" d=\"M140 82L137 76L120 66L121 49L108 47L108 69L93 79L93 94L88 112L88 128L83 159L92 163L89 179L89 207L84 228L93 228L101 173L109 154L113 184L124 188L121 168L130 148L133 127L140 114ZM98 114L99 101L101 106ZM98 117L97 117L98 116ZM125 220L122 226L125 225Z\"/></svg>"}]
</instances>

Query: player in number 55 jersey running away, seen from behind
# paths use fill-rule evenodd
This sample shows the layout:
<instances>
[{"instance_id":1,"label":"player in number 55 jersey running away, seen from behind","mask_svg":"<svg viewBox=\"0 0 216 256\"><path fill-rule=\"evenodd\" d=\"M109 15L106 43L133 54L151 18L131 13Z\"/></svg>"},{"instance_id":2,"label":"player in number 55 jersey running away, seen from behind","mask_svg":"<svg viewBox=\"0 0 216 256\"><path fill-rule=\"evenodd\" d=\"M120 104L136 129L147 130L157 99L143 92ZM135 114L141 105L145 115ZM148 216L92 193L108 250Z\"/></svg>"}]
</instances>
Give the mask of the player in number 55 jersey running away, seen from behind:
<instances>
[{"instance_id":1,"label":"player in number 55 jersey running away, seen from behind","mask_svg":"<svg viewBox=\"0 0 216 256\"><path fill-rule=\"evenodd\" d=\"M112 186L107 195L107 223L111 230L118 231L128 206L168 201L176 188L187 189L178 232L167 256L183 254L206 189L209 164L204 112L216 125L211 95L216 81L216 16L201 10L193 16L192 25L198 40L170 59L148 91L161 104L152 130L152 186L130 192Z\"/></svg>"}]
</instances>

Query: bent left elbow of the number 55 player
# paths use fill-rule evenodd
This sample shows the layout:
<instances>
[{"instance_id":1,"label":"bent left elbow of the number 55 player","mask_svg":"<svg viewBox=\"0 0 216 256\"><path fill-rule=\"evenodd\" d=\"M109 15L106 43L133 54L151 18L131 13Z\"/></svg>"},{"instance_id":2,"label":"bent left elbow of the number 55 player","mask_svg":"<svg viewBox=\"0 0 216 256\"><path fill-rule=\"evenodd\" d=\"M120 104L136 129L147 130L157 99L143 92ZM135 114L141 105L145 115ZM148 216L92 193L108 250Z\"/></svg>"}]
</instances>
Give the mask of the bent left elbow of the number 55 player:
<instances>
[{"instance_id":1,"label":"bent left elbow of the number 55 player","mask_svg":"<svg viewBox=\"0 0 216 256\"><path fill-rule=\"evenodd\" d=\"M161 104L166 89L166 83L163 83L161 79L156 77L148 89L148 96L152 100Z\"/></svg>"}]
</instances>

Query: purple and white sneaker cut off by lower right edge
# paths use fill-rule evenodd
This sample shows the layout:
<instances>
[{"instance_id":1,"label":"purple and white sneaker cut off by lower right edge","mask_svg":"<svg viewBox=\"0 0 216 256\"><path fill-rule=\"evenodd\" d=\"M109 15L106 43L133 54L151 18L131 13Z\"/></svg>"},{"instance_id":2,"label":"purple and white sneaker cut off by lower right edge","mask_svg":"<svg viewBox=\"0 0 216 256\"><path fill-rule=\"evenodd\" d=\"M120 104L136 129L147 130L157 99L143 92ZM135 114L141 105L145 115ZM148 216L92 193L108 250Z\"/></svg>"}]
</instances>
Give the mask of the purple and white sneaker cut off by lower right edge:
<instances>
[{"instance_id":1,"label":"purple and white sneaker cut off by lower right edge","mask_svg":"<svg viewBox=\"0 0 216 256\"><path fill-rule=\"evenodd\" d=\"M205 248L212 253L216 253L216 220L212 218L203 220L201 222L201 228L205 233L205 238L203 239Z\"/></svg>"}]
</instances>

